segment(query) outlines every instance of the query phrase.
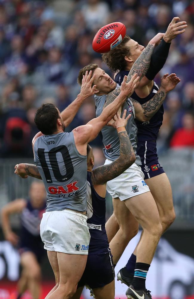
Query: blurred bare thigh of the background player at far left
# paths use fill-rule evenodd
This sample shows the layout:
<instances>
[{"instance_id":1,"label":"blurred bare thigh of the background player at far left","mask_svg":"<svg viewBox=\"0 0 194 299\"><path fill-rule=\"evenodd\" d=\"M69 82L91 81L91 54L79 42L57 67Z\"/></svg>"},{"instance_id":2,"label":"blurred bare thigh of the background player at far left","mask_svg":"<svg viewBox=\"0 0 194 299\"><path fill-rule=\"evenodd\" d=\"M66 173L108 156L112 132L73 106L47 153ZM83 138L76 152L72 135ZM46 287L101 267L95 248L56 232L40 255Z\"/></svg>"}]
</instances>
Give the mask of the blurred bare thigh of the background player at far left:
<instances>
[{"instance_id":1,"label":"blurred bare thigh of the background player at far left","mask_svg":"<svg viewBox=\"0 0 194 299\"><path fill-rule=\"evenodd\" d=\"M25 273L37 276L41 273L41 268L36 255L32 251L25 251L21 254L21 266Z\"/></svg>"}]
</instances>

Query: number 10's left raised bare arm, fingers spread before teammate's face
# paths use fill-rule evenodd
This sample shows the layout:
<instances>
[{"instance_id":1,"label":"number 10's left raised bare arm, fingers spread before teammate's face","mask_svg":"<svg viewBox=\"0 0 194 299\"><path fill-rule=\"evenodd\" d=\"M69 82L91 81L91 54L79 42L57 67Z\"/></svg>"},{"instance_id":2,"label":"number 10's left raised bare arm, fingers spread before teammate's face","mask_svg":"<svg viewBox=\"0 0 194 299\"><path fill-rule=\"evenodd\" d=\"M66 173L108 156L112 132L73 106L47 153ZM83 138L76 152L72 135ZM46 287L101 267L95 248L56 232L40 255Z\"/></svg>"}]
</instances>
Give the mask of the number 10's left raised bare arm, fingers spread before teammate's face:
<instances>
[{"instance_id":1,"label":"number 10's left raised bare arm, fingers spread before teammate's face","mask_svg":"<svg viewBox=\"0 0 194 299\"><path fill-rule=\"evenodd\" d=\"M89 74L88 71L86 71L81 82L80 93L76 99L66 109L64 109L63 112L61 112L65 127L69 126L69 124L72 122L84 100L94 94L96 85L92 87L92 83L95 79L95 74L92 78L91 75L92 71L90 71Z\"/></svg>"}]
</instances>

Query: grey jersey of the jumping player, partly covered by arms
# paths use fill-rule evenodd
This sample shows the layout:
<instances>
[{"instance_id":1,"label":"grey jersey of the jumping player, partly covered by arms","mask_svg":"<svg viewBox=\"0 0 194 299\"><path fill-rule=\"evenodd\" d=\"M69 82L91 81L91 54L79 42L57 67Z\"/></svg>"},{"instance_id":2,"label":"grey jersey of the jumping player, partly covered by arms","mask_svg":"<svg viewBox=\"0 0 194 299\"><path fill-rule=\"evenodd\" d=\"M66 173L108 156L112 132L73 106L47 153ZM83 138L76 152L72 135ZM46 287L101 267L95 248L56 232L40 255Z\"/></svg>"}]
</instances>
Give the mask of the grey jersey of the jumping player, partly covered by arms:
<instances>
[{"instance_id":1,"label":"grey jersey of the jumping player, partly covered by arms","mask_svg":"<svg viewBox=\"0 0 194 299\"><path fill-rule=\"evenodd\" d=\"M95 95L96 100L96 117L101 115L104 103L106 102L107 95L97 96ZM127 115L132 114L130 119L127 122L126 131L129 136L129 139L131 141L131 145L133 147L133 150L136 154L136 147L137 147L137 126L135 123L135 109L133 107L133 103L130 101L130 99L126 100L124 102L122 112L123 114L124 109L127 110ZM116 160L119 157L120 152L120 142L118 133L115 128L111 126L104 126L101 130L102 132L102 142L104 143L103 152L106 158L108 158L111 161ZM136 163L138 165L141 165L140 157L136 154Z\"/></svg>"}]
</instances>

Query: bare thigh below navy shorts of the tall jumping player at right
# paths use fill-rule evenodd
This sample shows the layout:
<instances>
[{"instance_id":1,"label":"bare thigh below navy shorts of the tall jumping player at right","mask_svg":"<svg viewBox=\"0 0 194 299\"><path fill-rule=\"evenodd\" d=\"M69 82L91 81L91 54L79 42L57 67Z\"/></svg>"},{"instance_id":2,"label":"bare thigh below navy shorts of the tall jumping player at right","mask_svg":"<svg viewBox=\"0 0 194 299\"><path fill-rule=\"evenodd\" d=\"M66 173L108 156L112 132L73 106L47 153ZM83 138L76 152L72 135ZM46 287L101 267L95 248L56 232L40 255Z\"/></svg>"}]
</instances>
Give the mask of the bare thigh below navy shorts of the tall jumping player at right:
<instances>
[{"instance_id":1,"label":"bare thigh below navy shorts of the tall jumping player at right","mask_svg":"<svg viewBox=\"0 0 194 299\"><path fill-rule=\"evenodd\" d=\"M170 181L166 173L145 180L158 207L159 215L168 214L173 208L173 196Z\"/></svg>"}]
</instances>

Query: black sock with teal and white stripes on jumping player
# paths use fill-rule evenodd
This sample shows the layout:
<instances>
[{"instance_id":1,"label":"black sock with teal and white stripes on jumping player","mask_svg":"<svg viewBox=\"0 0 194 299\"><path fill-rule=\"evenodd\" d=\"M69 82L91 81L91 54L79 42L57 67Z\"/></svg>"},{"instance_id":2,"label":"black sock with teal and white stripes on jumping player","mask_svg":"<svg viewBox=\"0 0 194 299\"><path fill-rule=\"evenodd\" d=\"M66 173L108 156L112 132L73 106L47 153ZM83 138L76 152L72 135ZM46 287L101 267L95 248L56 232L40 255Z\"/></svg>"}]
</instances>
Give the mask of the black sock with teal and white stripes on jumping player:
<instances>
[{"instance_id":1,"label":"black sock with teal and white stripes on jumping player","mask_svg":"<svg viewBox=\"0 0 194 299\"><path fill-rule=\"evenodd\" d=\"M135 290L144 290L145 287L145 281L146 281L146 275L150 268L149 264L145 263L136 263L135 267L135 273L132 281L132 285Z\"/></svg>"}]
</instances>

